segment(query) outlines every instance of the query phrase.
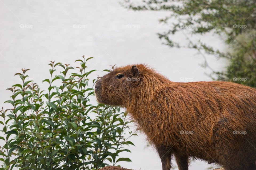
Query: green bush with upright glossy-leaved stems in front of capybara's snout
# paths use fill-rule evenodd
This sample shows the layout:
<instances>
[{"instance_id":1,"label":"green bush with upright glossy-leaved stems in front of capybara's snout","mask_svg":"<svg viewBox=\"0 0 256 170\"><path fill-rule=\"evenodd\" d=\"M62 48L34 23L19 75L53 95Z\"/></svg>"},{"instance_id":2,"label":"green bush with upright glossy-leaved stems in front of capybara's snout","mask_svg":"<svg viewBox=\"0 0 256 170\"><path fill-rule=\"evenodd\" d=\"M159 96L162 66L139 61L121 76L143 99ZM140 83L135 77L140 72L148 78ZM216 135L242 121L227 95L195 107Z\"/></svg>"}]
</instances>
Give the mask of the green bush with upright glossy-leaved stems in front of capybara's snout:
<instances>
[{"instance_id":1,"label":"green bush with upright glossy-leaved stems in front of capybara's snout","mask_svg":"<svg viewBox=\"0 0 256 170\"><path fill-rule=\"evenodd\" d=\"M1 110L5 145L0 169L98 169L131 161L119 157L130 152L125 145L133 145L127 140L136 135L129 131L131 121L119 107L90 102L94 89L88 87L88 76L95 70L86 71L89 59L76 60L76 69L51 61L50 79L43 80L47 91L29 79L29 69L15 74L22 84L8 88L11 108Z\"/></svg>"}]
</instances>

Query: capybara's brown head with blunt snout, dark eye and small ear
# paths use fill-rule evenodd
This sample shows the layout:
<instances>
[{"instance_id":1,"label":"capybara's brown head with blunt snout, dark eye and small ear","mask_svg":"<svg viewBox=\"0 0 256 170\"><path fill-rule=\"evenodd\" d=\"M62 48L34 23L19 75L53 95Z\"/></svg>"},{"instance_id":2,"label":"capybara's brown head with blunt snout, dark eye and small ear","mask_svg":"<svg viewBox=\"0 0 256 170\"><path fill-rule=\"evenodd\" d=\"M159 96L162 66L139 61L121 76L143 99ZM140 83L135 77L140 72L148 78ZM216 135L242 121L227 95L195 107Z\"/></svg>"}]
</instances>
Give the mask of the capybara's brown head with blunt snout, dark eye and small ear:
<instances>
[{"instance_id":1,"label":"capybara's brown head with blunt snout, dark eye and small ear","mask_svg":"<svg viewBox=\"0 0 256 170\"><path fill-rule=\"evenodd\" d=\"M95 94L99 103L124 106L132 95L133 88L142 80L139 64L115 68L110 73L98 79L95 84Z\"/></svg>"}]
</instances>

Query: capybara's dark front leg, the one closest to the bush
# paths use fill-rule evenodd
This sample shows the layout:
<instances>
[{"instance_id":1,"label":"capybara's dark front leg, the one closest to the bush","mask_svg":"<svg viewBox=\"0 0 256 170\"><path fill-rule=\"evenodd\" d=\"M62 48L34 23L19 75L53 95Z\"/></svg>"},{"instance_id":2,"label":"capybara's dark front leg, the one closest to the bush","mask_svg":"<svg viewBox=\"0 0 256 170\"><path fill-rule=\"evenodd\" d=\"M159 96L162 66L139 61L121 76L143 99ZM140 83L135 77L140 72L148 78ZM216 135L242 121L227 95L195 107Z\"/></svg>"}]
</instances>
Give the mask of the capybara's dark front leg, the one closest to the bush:
<instances>
[{"instance_id":1,"label":"capybara's dark front leg, the one closest to the bush","mask_svg":"<svg viewBox=\"0 0 256 170\"><path fill-rule=\"evenodd\" d=\"M171 169L171 151L165 147L157 147L158 155L160 156L163 170Z\"/></svg>"}]
</instances>

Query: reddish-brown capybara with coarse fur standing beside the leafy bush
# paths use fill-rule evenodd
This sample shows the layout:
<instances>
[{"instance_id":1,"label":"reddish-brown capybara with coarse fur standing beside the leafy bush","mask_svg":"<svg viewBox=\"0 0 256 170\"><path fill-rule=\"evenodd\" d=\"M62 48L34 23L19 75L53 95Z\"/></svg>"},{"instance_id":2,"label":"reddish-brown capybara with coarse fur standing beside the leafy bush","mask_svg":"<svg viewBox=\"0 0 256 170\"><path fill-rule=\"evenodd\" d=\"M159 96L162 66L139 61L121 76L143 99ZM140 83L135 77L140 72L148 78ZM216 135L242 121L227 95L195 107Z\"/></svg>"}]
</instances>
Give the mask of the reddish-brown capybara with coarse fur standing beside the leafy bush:
<instances>
[{"instance_id":1,"label":"reddish-brown capybara with coarse fur standing beside the leafy bush","mask_svg":"<svg viewBox=\"0 0 256 170\"><path fill-rule=\"evenodd\" d=\"M179 170L189 158L226 170L255 170L256 90L245 85L173 82L147 65L119 67L95 84L100 103L126 108L156 148L163 170L175 157Z\"/></svg>"}]
</instances>

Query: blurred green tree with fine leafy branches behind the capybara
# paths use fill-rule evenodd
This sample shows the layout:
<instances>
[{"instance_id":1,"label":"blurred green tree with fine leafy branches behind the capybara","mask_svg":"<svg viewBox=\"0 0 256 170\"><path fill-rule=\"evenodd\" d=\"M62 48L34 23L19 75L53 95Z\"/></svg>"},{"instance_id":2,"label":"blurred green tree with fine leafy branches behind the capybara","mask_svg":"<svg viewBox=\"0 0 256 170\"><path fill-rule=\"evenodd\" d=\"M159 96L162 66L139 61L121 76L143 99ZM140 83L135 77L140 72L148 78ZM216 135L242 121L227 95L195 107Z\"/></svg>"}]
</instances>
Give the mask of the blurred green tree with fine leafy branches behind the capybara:
<instances>
[{"instance_id":1,"label":"blurred green tree with fine leafy branches behind the capybara","mask_svg":"<svg viewBox=\"0 0 256 170\"><path fill-rule=\"evenodd\" d=\"M140 4L133 0L125 0L123 5L132 10L164 10L170 15L160 19L160 22L169 24L175 18L178 22L171 23L170 29L158 33L164 44L177 48L196 49L205 59L204 66L211 69L204 53L217 58L228 59L229 65L225 71L214 70L212 78L227 80L256 87L256 1L255 0L144 0ZM230 50L221 52L207 44L192 41L184 31L192 35L214 33L225 37L225 43ZM187 44L181 46L170 37L182 31L187 37Z\"/></svg>"}]
</instances>

